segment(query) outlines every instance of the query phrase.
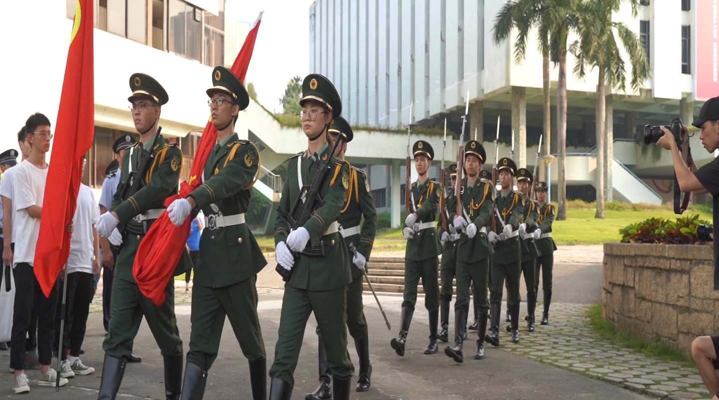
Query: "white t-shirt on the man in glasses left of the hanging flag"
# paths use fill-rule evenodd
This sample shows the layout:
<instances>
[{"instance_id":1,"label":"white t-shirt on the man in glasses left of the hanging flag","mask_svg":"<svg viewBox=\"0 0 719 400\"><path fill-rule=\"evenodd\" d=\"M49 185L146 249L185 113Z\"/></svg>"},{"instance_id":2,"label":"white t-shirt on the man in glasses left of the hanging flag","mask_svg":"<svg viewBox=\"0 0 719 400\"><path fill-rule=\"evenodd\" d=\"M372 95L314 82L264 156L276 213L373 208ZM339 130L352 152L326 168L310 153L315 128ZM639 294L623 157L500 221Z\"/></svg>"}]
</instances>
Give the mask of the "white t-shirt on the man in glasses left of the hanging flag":
<instances>
[{"instance_id":1,"label":"white t-shirt on the man in glasses left of the hanging flag","mask_svg":"<svg viewBox=\"0 0 719 400\"><path fill-rule=\"evenodd\" d=\"M13 222L15 230L13 266L18 263L32 265L35 263L35 245L40 235L40 218L30 217L27 207L42 207L42 200L45 199L47 168L37 168L28 160L24 160L12 169L17 170L12 187L12 207L16 211Z\"/></svg>"}]
</instances>

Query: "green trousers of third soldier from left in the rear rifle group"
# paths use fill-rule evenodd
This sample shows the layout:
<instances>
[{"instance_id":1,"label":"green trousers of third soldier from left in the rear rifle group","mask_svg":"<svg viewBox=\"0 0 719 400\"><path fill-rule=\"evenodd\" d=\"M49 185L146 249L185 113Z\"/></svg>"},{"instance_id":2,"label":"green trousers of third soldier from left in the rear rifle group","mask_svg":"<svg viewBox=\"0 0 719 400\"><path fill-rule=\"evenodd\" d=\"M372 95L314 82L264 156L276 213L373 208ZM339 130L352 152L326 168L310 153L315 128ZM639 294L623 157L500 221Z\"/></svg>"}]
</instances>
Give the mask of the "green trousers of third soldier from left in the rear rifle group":
<instances>
[{"instance_id":1,"label":"green trousers of third soldier from left in the rear rifle group","mask_svg":"<svg viewBox=\"0 0 719 400\"><path fill-rule=\"evenodd\" d=\"M490 306L487 303L487 281L489 281L490 260L476 263L457 262L457 302L454 309L464 309L467 315L470 311L470 283L474 283L473 295L477 299L480 314L487 314ZM474 312L472 312L474 314Z\"/></svg>"}]
</instances>

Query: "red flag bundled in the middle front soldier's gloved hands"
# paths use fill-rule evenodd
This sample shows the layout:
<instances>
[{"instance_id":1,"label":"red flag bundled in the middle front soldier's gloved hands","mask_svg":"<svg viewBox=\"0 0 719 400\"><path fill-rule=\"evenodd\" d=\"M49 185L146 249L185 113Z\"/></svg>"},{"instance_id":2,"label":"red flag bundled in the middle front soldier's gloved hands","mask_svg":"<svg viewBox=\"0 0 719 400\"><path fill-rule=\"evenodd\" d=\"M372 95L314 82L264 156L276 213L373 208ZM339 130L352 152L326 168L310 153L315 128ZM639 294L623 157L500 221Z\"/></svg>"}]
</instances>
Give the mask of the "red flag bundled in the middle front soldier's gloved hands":
<instances>
[{"instance_id":1,"label":"red flag bundled in the middle front soldier's gloved hands","mask_svg":"<svg viewBox=\"0 0 719 400\"><path fill-rule=\"evenodd\" d=\"M262 12L260 12L255 24L247 34L244 45L242 45L242 49L239 50L239 54L235 58L232 68L230 68L230 71L242 82L244 82L244 76L247 74L249 60L252 58L252 50L255 48L255 39L257 38L257 30L260 29L261 21ZM170 203L175 199L184 199L201 185L202 171L216 141L217 129L210 120L207 122L197 145L197 153L190 170L189 183L180 183L180 194L165 199L165 206L170 206ZM165 301L165 286L172 278L175 266L178 265L185 249L185 243L190 235L191 223L192 219L188 218L180 227L175 227L170 222L168 212L163 212L160 218L152 224L150 231L147 232L147 235L145 235L137 248L132 273L142 294L157 306L160 306Z\"/></svg>"}]
</instances>

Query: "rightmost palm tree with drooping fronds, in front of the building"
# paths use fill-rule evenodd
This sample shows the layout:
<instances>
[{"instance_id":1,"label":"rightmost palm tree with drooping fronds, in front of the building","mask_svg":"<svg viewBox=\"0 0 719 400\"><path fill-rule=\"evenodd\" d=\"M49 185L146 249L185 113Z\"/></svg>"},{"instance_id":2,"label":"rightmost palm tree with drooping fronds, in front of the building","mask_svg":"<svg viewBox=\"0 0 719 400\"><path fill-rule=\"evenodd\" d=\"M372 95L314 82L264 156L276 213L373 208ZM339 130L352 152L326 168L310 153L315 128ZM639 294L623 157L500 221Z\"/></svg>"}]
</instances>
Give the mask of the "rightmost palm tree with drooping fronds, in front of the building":
<instances>
[{"instance_id":1,"label":"rightmost palm tree with drooping fronds, in front of the building","mask_svg":"<svg viewBox=\"0 0 719 400\"><path fill-rule=\"evenodd\" d=\"M631 5L632 16L638 13L638 0L592 0L579 4L577 33L579 39L572 43L572 53L577 56L574 73L584 78L587 66L597 68L596 135L597 135L597 211L595 218L604 218L605 173L609 173L612 156L611 137L605 137L606 87L626 91L626 62L622 50L626 50L631 64L631 87L641 88L649 77L649 63L639 37L626 24L613 22L612 14L618 12L622 3ZM607 171L605 171L605 169ZM612 190L611 188L607 188Z\"/></svg>"}]
</instances>

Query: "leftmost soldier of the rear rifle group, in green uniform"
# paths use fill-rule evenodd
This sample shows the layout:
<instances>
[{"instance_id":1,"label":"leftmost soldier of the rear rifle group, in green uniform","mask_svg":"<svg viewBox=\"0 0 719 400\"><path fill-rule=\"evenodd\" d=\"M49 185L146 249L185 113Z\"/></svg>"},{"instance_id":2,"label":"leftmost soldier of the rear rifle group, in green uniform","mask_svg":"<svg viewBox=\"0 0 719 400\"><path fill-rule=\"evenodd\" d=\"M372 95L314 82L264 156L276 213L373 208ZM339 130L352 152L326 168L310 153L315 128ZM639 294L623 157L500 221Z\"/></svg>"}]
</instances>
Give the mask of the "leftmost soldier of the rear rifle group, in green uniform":
<instances>
[{"instance_id":1,"label":"leftmost soldier of the rear rifle group, in green uniform","mask_svg":"<svg viewBox=\"0 0 719 400\"><path fill-rule=\"evenodd\" d=\"M424 306L429 311L429 345L424 354L437 353L437 322L439 319L439 285L437 284L438 255L442 252L436 220L439 212L439 182L429 178L429 167L434 158L434 150L428 142L418 140L412 146L415 168L418 173L411 187L411 209L413 213L405 219L402 229L407 239L405 252L405 288L402 301L402 317L399 337L391 340L390 345L398 355L404 356L407 332L412 322L414 306L417 302L417 284L422 278Z\"/></svg>"}]
</instances>

